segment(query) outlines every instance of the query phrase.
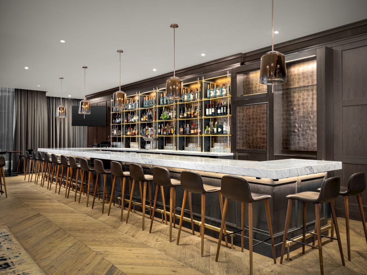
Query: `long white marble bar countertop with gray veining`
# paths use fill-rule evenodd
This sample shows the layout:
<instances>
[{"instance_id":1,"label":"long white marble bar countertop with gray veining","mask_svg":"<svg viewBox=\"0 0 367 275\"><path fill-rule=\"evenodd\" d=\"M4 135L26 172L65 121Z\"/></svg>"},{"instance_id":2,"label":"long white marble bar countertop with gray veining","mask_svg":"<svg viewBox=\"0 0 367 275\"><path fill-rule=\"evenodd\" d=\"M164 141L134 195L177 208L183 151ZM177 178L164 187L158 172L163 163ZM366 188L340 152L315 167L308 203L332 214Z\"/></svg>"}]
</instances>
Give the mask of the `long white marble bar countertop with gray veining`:
<instances>
[{"instance_id":1,"label":"long white marble bar countertop with gray veining","mask_svg":"<svg viewBox=\"0 0 367 275\"><path fill-rule=\"evenodd\" d=\"M342 169L340 161L310 159L242 161L194 156L100 151L91 150L91 148L39 148L38 151L267 179L284 179Z\"/></svg>"}]
</instances>

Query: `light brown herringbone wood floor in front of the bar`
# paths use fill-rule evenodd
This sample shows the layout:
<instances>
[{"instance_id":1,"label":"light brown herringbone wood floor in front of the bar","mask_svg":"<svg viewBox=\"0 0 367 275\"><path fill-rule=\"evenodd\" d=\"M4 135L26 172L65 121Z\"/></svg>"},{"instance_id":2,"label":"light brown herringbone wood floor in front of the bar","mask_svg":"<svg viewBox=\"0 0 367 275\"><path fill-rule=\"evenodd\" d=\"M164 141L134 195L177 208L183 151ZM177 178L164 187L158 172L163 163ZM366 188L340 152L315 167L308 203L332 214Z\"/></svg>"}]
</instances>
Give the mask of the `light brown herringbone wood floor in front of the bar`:
<instances>
[{"instance_id":1,"label":"light brown herringbone wood floor in front of the bar","mask_svg":"<svg viewBox=\"0 0 367 275\"><path fill-rule=\"evenodd\" d=\"M74 202L70 194L55 194L40 185L23 181L22 176L8 177L8 198L0 198L0 227L8 228L34 261L48 274L248 274L248 251L239 247L221 248L215 262L217 242L206 237L204 254L200 257L200 238L182 232L176 245L168 242L167 225L154 221L149 234L150 219L141 230L141 213L126 212L120 221L115 206L110 216L101 213L101 204L94 209ZM47 183L46 183L47 184ZM63 190L62 190L63 191ZM107 211L106 211L107 212ZM325 274L366 274L367 245L362 225L350 221L352 261L346 256L345 221L338 219L346 259L341 264L337 242L324 241ZM0 228L1 229L1 228ZM292 261L283 265L254 254L254 274L319 274L318 251L306 247L306 254L291 253ZM32 258L30 258L32 259Z\"/></svg>"}]
</instances>

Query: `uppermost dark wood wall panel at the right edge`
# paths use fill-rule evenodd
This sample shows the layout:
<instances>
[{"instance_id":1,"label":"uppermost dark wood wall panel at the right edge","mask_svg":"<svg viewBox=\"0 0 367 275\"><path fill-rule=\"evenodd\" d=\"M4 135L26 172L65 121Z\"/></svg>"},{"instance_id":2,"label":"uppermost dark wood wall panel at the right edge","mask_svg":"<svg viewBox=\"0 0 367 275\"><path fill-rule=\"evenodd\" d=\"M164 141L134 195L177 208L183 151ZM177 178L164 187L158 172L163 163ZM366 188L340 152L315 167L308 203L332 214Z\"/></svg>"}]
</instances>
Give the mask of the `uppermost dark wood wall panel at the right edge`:
<instances>
[{"instance_id":1,"label":"uppermost dark wood wall panel at the right edge","mask_svg":"<svg viewBox=\"0 0 367 275\"><path fill-rule=\"evenodd\" d=\"M367 98L367 46L342 51L342 98Z\"/></svg>"}]
</instances>

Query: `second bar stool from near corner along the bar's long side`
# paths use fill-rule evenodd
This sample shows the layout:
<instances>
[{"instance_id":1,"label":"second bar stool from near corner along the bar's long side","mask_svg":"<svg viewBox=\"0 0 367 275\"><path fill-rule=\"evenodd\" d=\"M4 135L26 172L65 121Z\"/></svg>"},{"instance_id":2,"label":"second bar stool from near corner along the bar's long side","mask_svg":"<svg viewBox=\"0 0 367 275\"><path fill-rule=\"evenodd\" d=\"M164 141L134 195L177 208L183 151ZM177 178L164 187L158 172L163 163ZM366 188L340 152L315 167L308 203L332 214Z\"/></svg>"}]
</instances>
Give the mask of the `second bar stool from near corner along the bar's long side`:
<instances>
[{"instance_id":1,"label":"second bar stool from near corner along the bar's long side","mask_svg":"<svg viewBox=\"0 0 367 275\"><path fill-rule=\"evenodd\" d=\"M204 257L205 198L206 198L207 193L218 192L219 205L221 206L221 213L223 213L223 197L221 193L221 187L204 184L203 179L201 178L199 173L194 172L194 171L186 171L186 170L183 170L181 172L181 187L183 188L183 190L187 191L186 196L188 192L201 194L201 231L200 231L201 257ZM184 193L183 201L182 201L182 209L185 209L185 202L186 202L186 198L185 198L185 193ZM182 220L183 220L183 211L181 211L180 224L178 227L177 245L180 240ZM226 234L227 231L226 231L225 224L224 224L224 231ZM226 246L228 246L227 236L225 236L225 242L226 242Z\"/></svg>"}]
</instances>

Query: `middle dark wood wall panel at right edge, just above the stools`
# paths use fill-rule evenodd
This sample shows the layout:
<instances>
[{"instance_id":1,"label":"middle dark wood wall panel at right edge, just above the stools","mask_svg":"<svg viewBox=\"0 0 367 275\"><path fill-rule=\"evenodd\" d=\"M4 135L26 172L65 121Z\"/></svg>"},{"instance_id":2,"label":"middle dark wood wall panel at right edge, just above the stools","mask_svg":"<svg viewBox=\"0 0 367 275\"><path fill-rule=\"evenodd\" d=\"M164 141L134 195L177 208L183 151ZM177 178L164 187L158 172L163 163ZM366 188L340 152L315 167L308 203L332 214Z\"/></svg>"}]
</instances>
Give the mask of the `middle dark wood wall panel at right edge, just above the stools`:
<instances>
[{"instance_id":1,"label":"middle dark wood wall panel at right edge, just above the stools","mask_svg":"<svg viewBox=\"0 0 367 275\"><path fill-rule=\"evenodd\" d=\"M343 106L343 157L367 158L367 105Z\"/></svg>"}]
</instances>

